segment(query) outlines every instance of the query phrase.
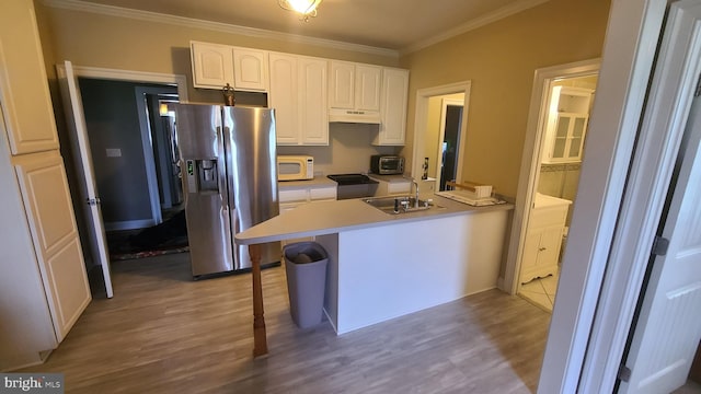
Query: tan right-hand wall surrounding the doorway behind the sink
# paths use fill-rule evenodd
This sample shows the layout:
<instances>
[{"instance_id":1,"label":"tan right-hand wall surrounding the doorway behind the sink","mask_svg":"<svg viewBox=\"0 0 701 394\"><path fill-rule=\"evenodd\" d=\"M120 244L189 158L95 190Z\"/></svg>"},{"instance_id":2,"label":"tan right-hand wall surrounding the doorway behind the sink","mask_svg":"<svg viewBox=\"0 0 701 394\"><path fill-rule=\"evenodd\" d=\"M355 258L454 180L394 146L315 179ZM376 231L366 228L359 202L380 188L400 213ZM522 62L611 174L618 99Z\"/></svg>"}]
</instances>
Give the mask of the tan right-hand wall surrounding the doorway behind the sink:
<instances>
[{"instance_id":1,"label":"tan right-hand wall surrounding the doorway behind the sink","mask_svg":"<svg viewBox=\"0 0 701 394\"><path fill-rule=\"evenodd\" d=\"M469 80L463 177L515 197L535 71L600 57L608 12L609 0L551 0L403 56L411 77L402 153L413 155L416 91Z\"/></svg>"}]
</instances>

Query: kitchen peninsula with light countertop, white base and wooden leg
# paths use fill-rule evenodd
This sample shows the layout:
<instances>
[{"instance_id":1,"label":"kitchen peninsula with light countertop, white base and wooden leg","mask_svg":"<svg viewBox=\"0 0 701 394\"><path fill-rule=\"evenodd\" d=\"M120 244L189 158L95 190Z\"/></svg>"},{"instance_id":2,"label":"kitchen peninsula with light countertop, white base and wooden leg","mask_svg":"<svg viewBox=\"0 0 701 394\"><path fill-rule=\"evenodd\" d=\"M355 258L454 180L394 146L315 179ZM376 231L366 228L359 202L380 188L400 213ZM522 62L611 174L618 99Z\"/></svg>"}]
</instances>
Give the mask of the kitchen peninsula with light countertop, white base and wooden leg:
<instances>
[{"instance_id":1,"label":"kitchen peninsula with light countertop, white base and wooden leg","mask_svg":"<svg viewBox=\"0 0 701 394\"><path fill-rule=\"evenodd\" d=\"M329 253L324 313L338 335L495 288L513 205L433 201L441 208L399 215L363 199L320 201L237 234L253 262L254 355L267 352L261 243L315 236Z\"/></svg>"}]
</instances>

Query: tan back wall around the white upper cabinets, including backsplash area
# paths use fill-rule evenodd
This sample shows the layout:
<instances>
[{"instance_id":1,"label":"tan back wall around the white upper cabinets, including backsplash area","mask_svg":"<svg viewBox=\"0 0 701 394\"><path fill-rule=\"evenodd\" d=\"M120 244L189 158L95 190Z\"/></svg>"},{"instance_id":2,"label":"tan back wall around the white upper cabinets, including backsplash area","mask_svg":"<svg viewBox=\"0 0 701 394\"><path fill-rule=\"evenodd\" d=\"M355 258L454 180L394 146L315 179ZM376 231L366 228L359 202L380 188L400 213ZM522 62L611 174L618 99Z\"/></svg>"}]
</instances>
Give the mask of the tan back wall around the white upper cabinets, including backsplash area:
<instances>
[{"instance_id":1,"label":"tan back wall around the white upper cabinets, including backsplash area","mask_svg":"<svg viewBox=\"0 0 701 394\"><path fill-rule=\"evenodd\" d=\"M200 40L227 45L254 47L266 50L292 53L330 59L341 59L380 66L398 67L398 56L382 56L367 51L352 51L327 46L300 44L290 40L250 37L221 31L179 26L170 23L147 22L74 10L50 8L41 0L34 0L46 69L51 88L51 99L57 117L61 152L66 161L72 161L68 148L68 135L64 120L60 92L56 82L55 65L70 60L76 66L183 74L187 78L188 100L191 102L221 103L221 92L192 88L192 63L189 42ZM254 94L249 94L254 95ZM245 104L246 93L237 93L237 102ZM258 97L251 97L256 100ZM338 127L343 129L344 127ZM354 160L342 161L338 165L347 171L367 171L368 157L378 153L394 153L394 148L377 148L369 144L369 132L363 128L357 134L358 141L366 143L360 150L346 154L358 143L347 142L344 131L331 128L331 147L281 148L281 154L303 153L318 157L318 171L331 171L331 158L348 157ZM354 142L354 141L352 141ZM347 148L346 144L348 144ZM69 178L77 177L74 169L67 166ZM333 171L342 170L333 169ZM71 182L73 195L78 195L76 184Z\"/></svg>"}]
</instances>

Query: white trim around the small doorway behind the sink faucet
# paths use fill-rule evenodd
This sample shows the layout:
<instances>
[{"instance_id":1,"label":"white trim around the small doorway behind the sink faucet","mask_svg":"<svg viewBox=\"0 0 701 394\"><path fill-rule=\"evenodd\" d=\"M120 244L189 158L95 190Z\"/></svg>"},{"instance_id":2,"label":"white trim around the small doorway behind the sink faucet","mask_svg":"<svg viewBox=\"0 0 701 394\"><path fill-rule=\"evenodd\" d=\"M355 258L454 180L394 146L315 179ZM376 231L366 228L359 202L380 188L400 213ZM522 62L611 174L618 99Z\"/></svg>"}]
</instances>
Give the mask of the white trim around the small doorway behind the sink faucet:
<instances>
[{"instance_id":1,"label":"white trim around the small doorway behind the sink faucet","mask_svg":"<svg viewBox=\"0 0 701 394\"><path fill-rule=\"evenodd\" d=\"M470 107L470 89L471 81L462 81L450 84L445 84L434 88L424 88L416 91L416 115L414 118L414 151L412 153L412 176L416 179L421 178L423 174L422 165L424 164L423 158L425 157L425 128L426 121L428 121L428 99L448 94L462 93L464 94L464 104L462 106L462 125L460 129L461 136L467 136L468 127L468 109ZM460 148L458 158L464 157L464 147L467 138L462 138L460 141ZM458 166L458 173L456 179L462 179L462 166Z\"/></svg>"}]
</instances>

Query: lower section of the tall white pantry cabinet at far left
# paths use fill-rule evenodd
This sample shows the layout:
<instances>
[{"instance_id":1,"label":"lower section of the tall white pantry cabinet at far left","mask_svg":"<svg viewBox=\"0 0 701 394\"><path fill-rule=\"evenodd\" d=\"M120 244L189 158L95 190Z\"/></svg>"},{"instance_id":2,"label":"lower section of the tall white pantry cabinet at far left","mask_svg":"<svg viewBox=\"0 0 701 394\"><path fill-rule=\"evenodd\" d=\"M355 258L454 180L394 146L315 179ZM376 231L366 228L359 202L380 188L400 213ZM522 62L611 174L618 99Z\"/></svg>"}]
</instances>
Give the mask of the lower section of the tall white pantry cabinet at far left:
<instances>
[{"instance_id":1,"label":"lower section of the tall white pantry cabinet at far left","mask_svg":"<svg viewBox=\"0 0 701 394\"><path fill-rule=\"evenodd\" d=\"M92 297L58 151L10 157L0 149L0 164L7 273L0 276L0 371L7 371L43 362Z\"/></svg>"}]
</instances>

